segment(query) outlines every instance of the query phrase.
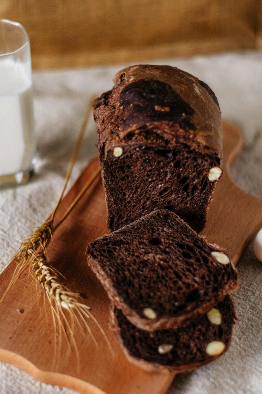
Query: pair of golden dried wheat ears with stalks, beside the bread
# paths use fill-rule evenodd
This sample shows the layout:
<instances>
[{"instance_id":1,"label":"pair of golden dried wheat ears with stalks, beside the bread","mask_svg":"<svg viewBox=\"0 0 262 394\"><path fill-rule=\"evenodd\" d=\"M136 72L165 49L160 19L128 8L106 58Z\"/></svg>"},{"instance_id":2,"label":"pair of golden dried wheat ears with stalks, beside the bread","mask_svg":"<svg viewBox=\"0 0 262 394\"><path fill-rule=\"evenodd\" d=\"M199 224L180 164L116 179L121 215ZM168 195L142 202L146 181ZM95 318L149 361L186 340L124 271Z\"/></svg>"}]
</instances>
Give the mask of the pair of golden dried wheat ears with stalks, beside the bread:
<instances>
[{"instance_id":1,"label":"pair of golden dried wheat ears with stalks, beside the bread","mask_svg":"<svg viewBox=\"0 0 262 394\"><path fill-rule=\"evenodd\" d=\"M75 207L75 205L78 203L78 201L81 199L85 191L91 186L91 184L94 182L94 180L97 178L97 176L100 174L100 168L98 168L91 178L88 180L84 188L79 192L79 194L76 196L74 201L71 203L67 211L64 213L62 218L57 222L56 225L54 225L54 218L55 214L57 212L58 206L64 196L72 169L73 165L75 163L83 136L84 136L84 131L87 126L91 111L92 111L92 103L94 99L96 98L96 95L93 95L89 105L87 107L87 111L85 114L85 118L79 133L79 137L77 139L77 143L74 149L74 152L72 154L70 164L67 170L67 174L65 177L65 182L64 186L62 189L62 192L60 194L60 197L58 199L58 202L56 204L55 209L53 210L51 217L49 220L41 224L30 236L28 239L23 241L12 257L11 260L16 261L16 269L14 271L14 274L12 276L11 282L9 283L8 288L6 289L5 293L3 294L2 298L0 299L0 302L3 300L9 289L13 286L13 284L17 281L21 273L26 269L29 268L29 272L32 275L32 277L36 280L36 283L42 286L42 288L45 291L45 294L50 302L51 305L51 312L52 312L52 318L53 318L53 323L54 323L54 328L55 328L55 334L56 334L56 329L57 329L57 324L58 324L58 330L59 330L59 344L58 344L58 349L56 345L56 339L54 341L54 347L55 347L55 352L54 352L54 364L57 362L58 364L58 357L60 356L60 351L61 351L61 334L62 332L65 334L65 337L68 340L69 345L71 344L72 347L74 348L77 356L77 366L79 369L80 365L80 360L79 360L79 354L78 354L78 349L76 346L75 338L74 338L74 322L78 324L78 326L81 328L83 334L84 331L82 329L81 323L84 325L84 328L88 331L89 335L91 336L92 340L94 341L95 345L98 346L93 334L91 333L90 328L88 327L86 323L86 319L92 319L97 327L99 328L100 332L102 333L107 345L109 346L109 349L112 351L111 346L107 340L107 337L100 327L99 323L95 320L95 318L92 316L90 313L90 307L87 305L84 305L80 303L77 300L77 296L79 294L72 293L69 289L67 289L64 285L62 285L59 281L59 275L61 275L54 267L52 267L47 258L47 247L52 241L52 236L54 232L57 230L57 228L63 223L63 221L67 218L69 213L72 211L72 209ZM68 322L67 315L65 313L69 313L70 317L70 323ZM55 367L55 365L53 366Z\"/></svg>"}]
</instances>

